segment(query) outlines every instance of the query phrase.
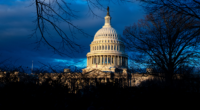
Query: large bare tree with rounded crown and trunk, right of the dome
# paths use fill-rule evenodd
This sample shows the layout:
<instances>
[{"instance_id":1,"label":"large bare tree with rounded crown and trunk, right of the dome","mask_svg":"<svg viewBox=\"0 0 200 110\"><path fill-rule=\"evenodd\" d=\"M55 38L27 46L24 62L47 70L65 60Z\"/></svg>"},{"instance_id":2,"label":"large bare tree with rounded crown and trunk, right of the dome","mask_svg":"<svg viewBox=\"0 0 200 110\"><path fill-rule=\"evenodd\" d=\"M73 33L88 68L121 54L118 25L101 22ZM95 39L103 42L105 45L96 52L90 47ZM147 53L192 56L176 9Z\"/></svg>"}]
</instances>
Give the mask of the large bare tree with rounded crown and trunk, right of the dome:
<instances>
[{"instance_id":1,"label":"large bare tree with rounded crown and trunk, right of the dome","mask_svg":"<svg viewBox=\"0 0 200 110\"><path fill-rule=\"evenodd\" d=\"M147 15L137 25L126 27L124 42L129 51L140 53L136 62L161 69L170 84L178 68L199 63L200 32L194 26L199 26L194 17L163 14L161 10Z\"/></svg>"}]
</instances>

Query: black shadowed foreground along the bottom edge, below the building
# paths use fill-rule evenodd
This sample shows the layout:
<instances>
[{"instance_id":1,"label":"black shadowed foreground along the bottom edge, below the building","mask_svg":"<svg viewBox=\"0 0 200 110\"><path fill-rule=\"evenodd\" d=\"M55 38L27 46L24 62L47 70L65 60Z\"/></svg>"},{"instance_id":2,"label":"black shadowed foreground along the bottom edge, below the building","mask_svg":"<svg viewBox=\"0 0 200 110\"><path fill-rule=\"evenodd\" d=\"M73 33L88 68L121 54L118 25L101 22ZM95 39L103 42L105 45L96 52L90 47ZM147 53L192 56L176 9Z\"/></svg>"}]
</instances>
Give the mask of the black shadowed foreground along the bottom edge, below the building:
<instances>
[{"instance_id":1,"label":"black shadowed foreground along the bottom edge, below the building","mask_svg":"<svg viewBox=\"0 0 200 110\"><path fill-rule=\"evenodd\" d=\"M143 82L140 87L99 84L77 94L68 93L60 85L7 83L0 88L0 109L196 110L200 102L199 81L183 79L170 88L156 80Z\"/></svg>"}]
</instances>

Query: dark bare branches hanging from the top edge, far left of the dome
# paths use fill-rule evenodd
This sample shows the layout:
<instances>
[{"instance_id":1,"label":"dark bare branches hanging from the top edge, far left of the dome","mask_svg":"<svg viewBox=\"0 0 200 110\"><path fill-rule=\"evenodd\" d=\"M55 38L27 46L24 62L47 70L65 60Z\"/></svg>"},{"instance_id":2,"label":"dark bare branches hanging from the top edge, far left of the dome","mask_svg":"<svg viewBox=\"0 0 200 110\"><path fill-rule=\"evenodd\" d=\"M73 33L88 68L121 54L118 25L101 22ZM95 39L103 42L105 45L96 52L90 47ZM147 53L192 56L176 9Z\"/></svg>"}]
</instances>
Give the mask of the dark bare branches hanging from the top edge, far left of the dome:
<instances>
[{"instance_id":1,"label":"dark bare branches hanging from the top edge, far left of the dome","mask_svg":"<svg viewBox=\"0 0 200 110\"><path fill-rule=\"evenodd\" d=\"M58 53L59 55L67 55L70 57L73 52L79 52L81 49L81 46L77 44L74 41L75 37L75 32L72 29L78 30L83 36L89 36L87 33L85 33L83 30L79 29L77 26L72 24L71 22L71 17L72 18L77 18L77 16L74 14L74 10L72 10L69 7L69 3L67 3L64 0L34 0L35 1L35 6L36 6L36 13L37 13L37 18L36 18L36 29L34 30L34 34L36 34L37 30L39 30L41 34L41 38L39 41L36 43L40 45L42 40L53 48L54 52ZM58 11L56 10L58 9ZM66 17L64 17L66 16ZM56 23L60 21L64 21L68 24L69 30L71 32L71 36L67 35L66 32L61 29ZM61 37L61 42L60 47L62 49L62 52L59 51L55 46L50 44L50 42L47 40L47 37L45 36L45 32L48 33L50 36L50 33L48 30L47 23L49 23L53 29L56 31L56 33ZM67 51L68 54L65 54L64 51Z\"/></svg>"}]
</instances>

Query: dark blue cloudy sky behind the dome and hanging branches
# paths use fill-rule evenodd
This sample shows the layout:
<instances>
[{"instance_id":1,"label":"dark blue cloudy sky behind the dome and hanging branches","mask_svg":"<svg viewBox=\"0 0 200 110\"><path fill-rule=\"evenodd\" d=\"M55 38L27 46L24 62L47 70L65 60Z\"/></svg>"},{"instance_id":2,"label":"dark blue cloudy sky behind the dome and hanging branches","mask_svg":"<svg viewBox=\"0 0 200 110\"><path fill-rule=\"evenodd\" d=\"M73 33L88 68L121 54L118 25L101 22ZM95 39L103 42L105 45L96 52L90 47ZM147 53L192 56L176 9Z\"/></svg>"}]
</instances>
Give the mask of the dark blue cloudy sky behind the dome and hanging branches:
<instances>
[{"instance_id":1,"label":"dark blue cloudy sky behind the dome and hanging branches","mask_svg":"<svg viewBox=\"0 0 200 110\"><path fill-rule=\"evenodd\" d=\"M72 23L79 28L83 29L92 37L83 37L77 34L75 41L85 47L81 53L75 53L73 58L62 57L54 54L53 50L47 45L41 44L38 49L37 37L30 38L36 27L33 22L36 19L36 7L33 0L0 0L0 62L8 59L4 64L9 65L22 65L28 68L42 66L43 64L62 65L67 67L74 65L77 67L86 67L86 54L90 51L90 43L92 42L95 33L104 25L104 17L106 16L106 8L110 7L111 25L122 36L125 26L130 26L136 23L139 19L144 18L144 11L138 2L134 3L103 3L104 11L93 8L95 14L102 18L97 18L89 12L87 3L84 0L71 1L71 8L79 11L75 13L79 16L77 19L72 19ZM67 34L70 34L67 23L61 22L60 27L64 29ZM52 29L52 28L50 28ZM50 43L52 41L60 41L60 37L51 33L52 37L48 37ZM37 33L38 38L41 37ZM128 53L128 52L126 52ZM0 65L2 66L2 64ZM30 69L29 69L30 70ZM27 71L29 73L30 71Z\"/></svg>"}]
</instances>

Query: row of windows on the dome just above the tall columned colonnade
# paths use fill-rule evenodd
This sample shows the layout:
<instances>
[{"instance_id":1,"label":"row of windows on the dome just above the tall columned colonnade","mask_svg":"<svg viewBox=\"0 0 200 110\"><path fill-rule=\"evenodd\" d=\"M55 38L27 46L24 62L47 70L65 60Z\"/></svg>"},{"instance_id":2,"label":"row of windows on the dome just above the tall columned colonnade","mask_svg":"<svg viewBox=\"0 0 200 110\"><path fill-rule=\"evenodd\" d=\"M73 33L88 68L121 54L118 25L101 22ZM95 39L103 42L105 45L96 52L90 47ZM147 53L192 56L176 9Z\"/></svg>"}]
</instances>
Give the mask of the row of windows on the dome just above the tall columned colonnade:
<instances>
[{"instance_id":1,"label":"row of windows on the dome just above the tall columned colonnade","mask_svg":"<svg viewBox=\"0 0 200 110\"><path fill-rule=\"evenodd\" d=\"M121 48L121 49L120 49ZM122 51L124 51L124 47L123 46L121 46L121 47L119 47L119 45L102 45L102 46L93 46L92 47L92 50L117 50L117 51L119 51L119 50L122 50Z\"/></svg>"}]
</instances>

